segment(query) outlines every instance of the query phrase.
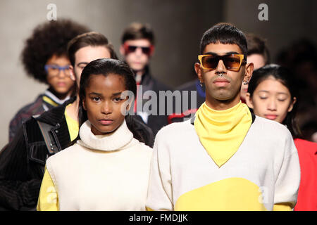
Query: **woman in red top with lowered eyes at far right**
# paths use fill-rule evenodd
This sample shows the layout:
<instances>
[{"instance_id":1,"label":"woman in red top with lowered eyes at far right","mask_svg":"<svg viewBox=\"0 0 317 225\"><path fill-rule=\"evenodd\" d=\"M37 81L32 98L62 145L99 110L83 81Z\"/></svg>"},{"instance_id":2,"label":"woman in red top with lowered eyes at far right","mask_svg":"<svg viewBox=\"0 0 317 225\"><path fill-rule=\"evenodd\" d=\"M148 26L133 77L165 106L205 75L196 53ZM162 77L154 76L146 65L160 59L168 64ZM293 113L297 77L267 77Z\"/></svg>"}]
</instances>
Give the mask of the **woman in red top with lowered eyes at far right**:
<instances>
[{"instance_id":1,"label":"woman in red top with lowered eyes at far right","mask_svg":"<svg viewBox=\"0 0 317 225\"><path fill-rule=\"evenodd\" d=\"M298 96L292 72L280 65L270 64L254 70L246 101L255 115L284 124L290 130L301 166L301 182L294 210L317 210L317 143L301 139L296 120Z\"/></svg>"}]
</instances>

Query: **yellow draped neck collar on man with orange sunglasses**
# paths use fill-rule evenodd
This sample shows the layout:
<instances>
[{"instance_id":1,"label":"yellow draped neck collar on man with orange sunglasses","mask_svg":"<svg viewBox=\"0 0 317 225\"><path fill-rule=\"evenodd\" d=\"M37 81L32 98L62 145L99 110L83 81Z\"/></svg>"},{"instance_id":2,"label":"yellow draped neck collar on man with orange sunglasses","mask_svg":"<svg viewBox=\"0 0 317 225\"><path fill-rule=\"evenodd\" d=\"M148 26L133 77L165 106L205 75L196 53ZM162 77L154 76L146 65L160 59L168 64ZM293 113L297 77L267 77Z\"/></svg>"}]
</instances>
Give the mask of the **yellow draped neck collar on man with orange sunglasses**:
<instances>
[{"instance_id":1,"label":"yellow draped neck collar on man with orange sunglasses","mask_svg":"<svg viewBox=\"0 0 317 225\"><path fill-rule=\"evenodd\" d=\"M251 122L251 112L241 101L228 110L213 110L205 102L197 110L194 128L202 146L221 167L237 152Z\"/></svg>"}]
</instances>

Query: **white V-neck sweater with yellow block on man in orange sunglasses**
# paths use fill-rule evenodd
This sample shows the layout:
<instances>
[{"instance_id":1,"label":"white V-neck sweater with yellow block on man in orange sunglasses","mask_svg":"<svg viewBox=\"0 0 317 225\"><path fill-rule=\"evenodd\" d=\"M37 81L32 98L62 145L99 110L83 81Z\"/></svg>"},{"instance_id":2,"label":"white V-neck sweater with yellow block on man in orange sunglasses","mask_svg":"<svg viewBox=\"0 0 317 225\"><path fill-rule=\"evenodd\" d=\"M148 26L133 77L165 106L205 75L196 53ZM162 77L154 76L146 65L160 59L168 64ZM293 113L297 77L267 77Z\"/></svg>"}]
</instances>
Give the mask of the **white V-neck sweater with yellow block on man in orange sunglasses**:
<instances>
[{"instance_id":1,"label":"white V-neck sweater with yellow block on man in orange sunglasses","mask_svg":"<svg viewBox=\"0 0 317 225\"><path fill-rule=\"evenodd\" d=\"M194 120L159 131L151 164L148 210L290 210L297 201L299 158L290 131L261 117L221 167L201 145Z\"/></svg>"}]
</instances>

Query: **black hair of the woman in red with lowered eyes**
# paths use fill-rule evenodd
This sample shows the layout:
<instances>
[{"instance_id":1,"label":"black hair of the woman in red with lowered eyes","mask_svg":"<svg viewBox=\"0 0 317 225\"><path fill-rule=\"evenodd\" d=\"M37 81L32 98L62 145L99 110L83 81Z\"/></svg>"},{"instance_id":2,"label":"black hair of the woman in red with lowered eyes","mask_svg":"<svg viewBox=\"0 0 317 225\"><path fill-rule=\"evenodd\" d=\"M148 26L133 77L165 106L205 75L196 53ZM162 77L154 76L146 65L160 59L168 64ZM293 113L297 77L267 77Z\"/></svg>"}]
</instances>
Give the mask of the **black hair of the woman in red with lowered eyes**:
<instances>
[{"instance_id":1,"label":"black hair of the woman in red with lowered eyes","mask_svg":"<svg viewBox=\"0 0 317 225\"><path fill-rule=\"evenodd\" d=\"M253 96L256 87L269 77L274 77L281 82L281 84L287 87L291 94L291 100L294 97L297 98L297 102L294 104L292 111L287 113L287 116L282 124L287 125L287 128L290 130L294 138L302 137L302 133L297 121L295 120L299 104L299 92L296 85L296 79L289 69L276 64L268 64L264 65L262 68L254 70L252 79L250 79L248 86L250 97Z\"/></svg>"}]
</instances>

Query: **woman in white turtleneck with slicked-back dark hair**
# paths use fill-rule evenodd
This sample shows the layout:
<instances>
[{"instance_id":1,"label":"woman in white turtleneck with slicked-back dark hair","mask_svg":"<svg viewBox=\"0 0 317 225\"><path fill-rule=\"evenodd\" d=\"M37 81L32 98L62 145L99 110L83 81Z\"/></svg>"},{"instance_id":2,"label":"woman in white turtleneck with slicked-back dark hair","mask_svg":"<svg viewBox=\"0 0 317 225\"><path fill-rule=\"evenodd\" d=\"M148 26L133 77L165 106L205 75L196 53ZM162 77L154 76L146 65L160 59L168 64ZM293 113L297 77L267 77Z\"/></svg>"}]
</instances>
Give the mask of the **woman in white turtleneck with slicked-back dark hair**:
<instances>
[{"instance_id":1,"label":"woman in white turtleneck with slicked-back dark hair","mask_svg":"<svg viewBox=\"0 0 317 225\"><path fill-rule=\"evenodd\" d=\"M129 126L136 88L120 60L86 65L77 141L46 161L37 210L145 210L152 150Z\"/></svg>"}]
</instances>

